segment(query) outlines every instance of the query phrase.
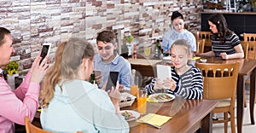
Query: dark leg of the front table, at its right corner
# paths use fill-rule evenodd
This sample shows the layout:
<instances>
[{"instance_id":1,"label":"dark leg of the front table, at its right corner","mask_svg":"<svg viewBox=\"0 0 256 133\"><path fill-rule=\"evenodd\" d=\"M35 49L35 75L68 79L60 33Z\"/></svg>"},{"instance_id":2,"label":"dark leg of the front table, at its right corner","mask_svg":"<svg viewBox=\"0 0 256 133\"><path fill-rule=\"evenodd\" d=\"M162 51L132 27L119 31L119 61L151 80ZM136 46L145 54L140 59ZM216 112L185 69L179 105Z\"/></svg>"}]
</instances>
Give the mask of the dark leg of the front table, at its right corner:
<instances>
[{"instance_id":1,"label":"dark leg of the front table, at its right corner","mask_svg":"<svg viewBox=\"0 0 256 133\"><path fill-rule=\"evenodd\" d=\"M201 132L212 133L212 112L201 120Z\"/></svg>"}]
</instances>

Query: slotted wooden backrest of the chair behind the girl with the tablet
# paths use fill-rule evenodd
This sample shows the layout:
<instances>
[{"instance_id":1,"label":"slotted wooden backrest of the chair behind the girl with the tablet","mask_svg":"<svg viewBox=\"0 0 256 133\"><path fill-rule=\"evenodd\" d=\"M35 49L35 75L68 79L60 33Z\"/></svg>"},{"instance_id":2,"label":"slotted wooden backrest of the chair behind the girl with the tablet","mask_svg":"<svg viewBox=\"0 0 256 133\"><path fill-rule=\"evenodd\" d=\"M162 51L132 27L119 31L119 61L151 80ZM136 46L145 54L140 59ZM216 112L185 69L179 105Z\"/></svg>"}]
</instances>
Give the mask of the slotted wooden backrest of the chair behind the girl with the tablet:
<instances>
[{"instance_id":1,"label":"slotted wooden backrest of the chair behind the girl with the tablet","mask_svg":"<svg viewBox=\"0 0 256 133\"><path fill-rule=\"evenodd\" d=\"M203 99L230 99L230 104L235 106L239 63L210 64L196 62L195 66L201 70L203 76Z\"/></svg>"}]
</instances>

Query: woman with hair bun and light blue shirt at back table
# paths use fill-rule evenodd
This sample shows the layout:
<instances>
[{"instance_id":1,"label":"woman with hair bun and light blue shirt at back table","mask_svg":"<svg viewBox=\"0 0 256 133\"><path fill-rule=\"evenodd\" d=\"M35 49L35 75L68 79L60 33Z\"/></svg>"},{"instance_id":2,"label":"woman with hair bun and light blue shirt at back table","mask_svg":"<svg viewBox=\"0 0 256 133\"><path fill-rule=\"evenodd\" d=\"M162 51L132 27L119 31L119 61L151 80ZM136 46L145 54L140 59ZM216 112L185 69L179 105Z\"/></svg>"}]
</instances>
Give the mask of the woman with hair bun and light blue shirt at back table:
<instances>
[{"instance_id":1,"label":"woman with hair bun and light blue shirt at back table","mask_svg":"<svg viewBox=\"0 0 256 133\"><path fill-rule=\"evenodd\" d=\"M172 13L172 28L166 32L163 36L161 47L164 49L164 54L169 55L172 43L177 39L185 39L191 45L193 52L196 52L196 41L195 36L192 32L184 29L184 18L183 14L178 11Z\"/></svg>"}]
</instances>

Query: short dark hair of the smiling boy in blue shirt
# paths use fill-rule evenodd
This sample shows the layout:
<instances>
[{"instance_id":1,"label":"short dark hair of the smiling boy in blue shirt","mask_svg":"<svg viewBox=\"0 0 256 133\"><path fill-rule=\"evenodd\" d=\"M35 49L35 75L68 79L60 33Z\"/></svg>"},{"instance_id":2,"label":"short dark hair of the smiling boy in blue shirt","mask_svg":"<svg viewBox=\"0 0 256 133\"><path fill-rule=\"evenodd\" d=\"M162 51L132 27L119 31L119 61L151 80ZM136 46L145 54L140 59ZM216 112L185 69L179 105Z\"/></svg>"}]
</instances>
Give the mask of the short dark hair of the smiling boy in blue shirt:
<instances>
[{"instance_id":1,"label":"short dark hair of the smiling boy in blue shirt","mask_svg":"<svg viewBox=\"0 0 256 133\"><path fill-rule=\"evenodd\" d=\"M96 42L102 41L103 43L116 43L116 37L113 32L103 31L99 32Z\"/></svg>"}]
</instances>

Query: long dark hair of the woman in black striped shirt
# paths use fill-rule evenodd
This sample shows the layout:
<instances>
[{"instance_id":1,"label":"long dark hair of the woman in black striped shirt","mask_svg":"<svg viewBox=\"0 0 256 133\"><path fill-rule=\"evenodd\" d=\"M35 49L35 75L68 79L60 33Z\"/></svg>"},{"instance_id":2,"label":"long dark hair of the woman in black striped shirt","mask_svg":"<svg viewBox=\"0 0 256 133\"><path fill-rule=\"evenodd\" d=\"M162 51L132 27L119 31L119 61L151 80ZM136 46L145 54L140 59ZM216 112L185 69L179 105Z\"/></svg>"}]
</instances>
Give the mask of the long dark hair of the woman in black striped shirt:
<instances>
[{"instance_id":1,"label":"long dark hair of the woman in black striped shirt","mask_svg":"<svg viewBox=\"0 0 256 133\"><path fill-rule=\"evenodd\" d=\"M218 35L216 35L216 38L219 36L219 40L222 43L225 42L225 38L227 35L230 35L233 33L228 28L227 22L223 14L212 14L208 20L211 21L212 24L216 25L218 30Z\"/></svg>"}]
</instances>

